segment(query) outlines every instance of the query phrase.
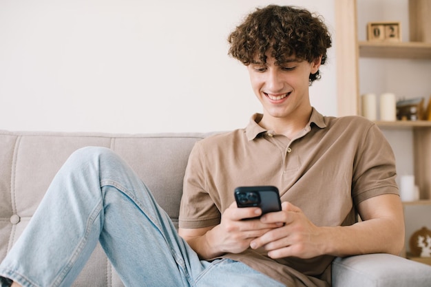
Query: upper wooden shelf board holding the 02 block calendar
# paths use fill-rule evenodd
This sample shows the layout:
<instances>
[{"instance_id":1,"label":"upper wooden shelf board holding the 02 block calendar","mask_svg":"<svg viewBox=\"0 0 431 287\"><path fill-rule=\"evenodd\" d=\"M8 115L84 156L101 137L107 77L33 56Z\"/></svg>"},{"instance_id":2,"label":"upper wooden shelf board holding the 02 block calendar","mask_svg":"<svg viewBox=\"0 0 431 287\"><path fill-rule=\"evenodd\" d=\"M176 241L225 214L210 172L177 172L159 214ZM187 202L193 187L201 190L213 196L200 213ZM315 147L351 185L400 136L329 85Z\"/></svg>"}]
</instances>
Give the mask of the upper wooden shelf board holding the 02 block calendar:
<instances>
[{"instance_id":1,"label":"upper wooden shelf board holding the 02 block calendar","mask_svg":"<svg viewBox=\"0 0 431 287\"><path fill-rule=\"evenodd\" d=\"M359 56L392 59L431 59L431 43L359 41Z\"/></svg>"}]
</instances>

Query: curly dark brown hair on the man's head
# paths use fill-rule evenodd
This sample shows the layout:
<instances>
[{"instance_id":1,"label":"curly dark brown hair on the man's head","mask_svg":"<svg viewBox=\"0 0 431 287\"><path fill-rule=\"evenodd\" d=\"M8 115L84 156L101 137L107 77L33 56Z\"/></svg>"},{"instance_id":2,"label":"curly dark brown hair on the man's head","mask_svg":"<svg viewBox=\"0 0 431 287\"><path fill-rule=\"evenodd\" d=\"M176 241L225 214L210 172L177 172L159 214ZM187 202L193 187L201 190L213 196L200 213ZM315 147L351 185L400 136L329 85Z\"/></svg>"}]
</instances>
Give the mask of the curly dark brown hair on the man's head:
<instances>
[{"instance_id":1,"label":"curly dark brown hair on the man's head","mask_svg":"<svg viewBox=\"0 0 431 287\"><path fill-rule=\"evenodd\" d=\"M249 14L228 37L229 54L244 65L266 63L265 53L271 51L276 63L285 63L295 56L309 63L322 56L331 46L330 33L322 17L293 6L269 5ZM310 83L320 78L319 71L310 75Z\"/></svg>"}]
</instances>

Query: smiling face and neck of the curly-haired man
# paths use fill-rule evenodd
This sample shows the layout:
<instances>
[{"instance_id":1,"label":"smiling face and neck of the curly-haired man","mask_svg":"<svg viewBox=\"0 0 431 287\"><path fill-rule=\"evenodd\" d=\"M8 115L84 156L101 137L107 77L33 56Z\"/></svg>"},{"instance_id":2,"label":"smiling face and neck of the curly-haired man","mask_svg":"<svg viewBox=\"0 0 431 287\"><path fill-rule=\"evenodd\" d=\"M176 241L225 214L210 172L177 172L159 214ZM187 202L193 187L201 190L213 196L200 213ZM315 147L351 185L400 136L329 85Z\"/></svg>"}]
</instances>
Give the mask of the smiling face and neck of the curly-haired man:
<instances>
[{"instance_id":1,"label":"smiling face and neck of the curly-haired man","mask_svg":"<svg viewBox=\"0 0 431 287\"><path fill-rule=\"evenodd\" d=\"M266 63L247 65L253 92L264 109L261 123L303 123L311 114L308 95L309 76L320 67L320 58L308 63L291 57L277 63L270 53ZM272 124L271 124L272 123Z\"/></svg>"}]
</instances>

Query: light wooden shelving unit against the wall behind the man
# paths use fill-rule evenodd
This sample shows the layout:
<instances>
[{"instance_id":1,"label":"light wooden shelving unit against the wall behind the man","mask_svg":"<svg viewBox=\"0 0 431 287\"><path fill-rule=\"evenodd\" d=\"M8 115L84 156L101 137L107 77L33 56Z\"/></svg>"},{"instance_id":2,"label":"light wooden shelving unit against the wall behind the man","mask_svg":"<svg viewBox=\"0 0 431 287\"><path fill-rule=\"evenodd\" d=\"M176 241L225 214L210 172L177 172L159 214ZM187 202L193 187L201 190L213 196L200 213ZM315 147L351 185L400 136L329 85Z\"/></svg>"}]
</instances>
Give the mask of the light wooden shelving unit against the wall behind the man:
<instances>
[{"instance_id":1,"label":"light wooden shelving unit against the wall behind the man","mask_svg":"<svg viewBox=\"0 0 431 287\"><path fill-rule=\"evenodd\" d=\"M431 60L431 43L359 41L357 0L335 0L335 25L339 116L360 114L359 58ZM381 129L412 129L415 181L421 200L431 200L431 121L377 121L376 124Z\"/></svg>"}]
</instances>

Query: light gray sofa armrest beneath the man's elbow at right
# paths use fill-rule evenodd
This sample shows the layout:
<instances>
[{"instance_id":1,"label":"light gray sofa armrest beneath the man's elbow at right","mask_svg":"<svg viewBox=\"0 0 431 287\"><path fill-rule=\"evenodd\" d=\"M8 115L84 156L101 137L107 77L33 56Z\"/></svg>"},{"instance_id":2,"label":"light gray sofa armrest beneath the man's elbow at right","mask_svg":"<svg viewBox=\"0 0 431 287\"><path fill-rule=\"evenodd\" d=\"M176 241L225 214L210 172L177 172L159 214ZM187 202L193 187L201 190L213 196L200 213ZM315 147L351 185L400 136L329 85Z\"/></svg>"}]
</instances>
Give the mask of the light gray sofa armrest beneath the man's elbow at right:
<instances>
[{"instance_id":1,"label":"light gray sofa armrest beneath the man's elbow at right","mask_svg":"<svg viewBox=\"0 0 431 287\"><path fill-rule=\"evenodd\" d=\"M336 258L333 287L431 286L431 266L390 254Z\"/></svg>"}]
</instances>

